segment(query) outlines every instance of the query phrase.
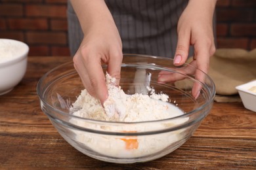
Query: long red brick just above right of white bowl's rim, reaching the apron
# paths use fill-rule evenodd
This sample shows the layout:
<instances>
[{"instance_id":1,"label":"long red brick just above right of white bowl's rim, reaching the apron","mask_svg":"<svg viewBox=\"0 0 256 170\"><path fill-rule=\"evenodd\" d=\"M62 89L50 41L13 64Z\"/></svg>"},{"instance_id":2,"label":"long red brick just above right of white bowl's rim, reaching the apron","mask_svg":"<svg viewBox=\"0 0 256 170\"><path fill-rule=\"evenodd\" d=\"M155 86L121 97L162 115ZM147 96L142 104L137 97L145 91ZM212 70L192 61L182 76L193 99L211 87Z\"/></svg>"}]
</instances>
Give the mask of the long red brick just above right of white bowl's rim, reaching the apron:
<instances>
[{"instance_id":1,"label":"long red brick just above right of white bowl's rim, reaching the apron","mask_svg":"<svg viewBox=\"0 0 256 170\"><path fill-rule=\"evenodd\" d=\"M67 34L60 32L28 32L28 42L32 44L68 44Z\"/></svg>"}]
</instances>

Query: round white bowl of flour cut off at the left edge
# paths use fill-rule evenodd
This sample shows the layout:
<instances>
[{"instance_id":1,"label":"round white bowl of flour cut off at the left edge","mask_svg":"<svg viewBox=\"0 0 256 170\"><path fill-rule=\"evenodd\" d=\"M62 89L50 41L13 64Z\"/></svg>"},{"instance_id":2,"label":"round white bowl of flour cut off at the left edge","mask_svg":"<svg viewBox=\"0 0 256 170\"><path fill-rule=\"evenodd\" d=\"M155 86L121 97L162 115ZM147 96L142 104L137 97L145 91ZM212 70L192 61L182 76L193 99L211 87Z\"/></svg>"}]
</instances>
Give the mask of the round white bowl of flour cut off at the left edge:
<instances>
[{"instance_id":1,"label":"round white bowl of flour cut off at the left edge","mask_svg":"<svg viewBox=\"0 0 256 170\"><path fill-rule=\"evenodd\" d=\"M0 95L11 92L26 73L29 47L24 42L0 39Z\"/></svg>"}]
</instances>

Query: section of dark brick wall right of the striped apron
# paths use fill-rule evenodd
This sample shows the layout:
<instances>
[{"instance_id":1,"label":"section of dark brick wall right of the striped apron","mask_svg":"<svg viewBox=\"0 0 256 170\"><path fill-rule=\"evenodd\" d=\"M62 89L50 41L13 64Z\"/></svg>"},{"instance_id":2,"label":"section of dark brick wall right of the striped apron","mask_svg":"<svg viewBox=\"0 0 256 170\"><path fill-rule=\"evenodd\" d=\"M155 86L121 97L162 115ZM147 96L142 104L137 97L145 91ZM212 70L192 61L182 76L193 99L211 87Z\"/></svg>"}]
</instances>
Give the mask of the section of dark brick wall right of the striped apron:
<instances>
[{"instance_id":1,"label":"section of dark brick wall right of the striped apron","mask_svg":"<svg viewBox=\"0 0 256 170\"><path fill-rule=\"evenodd\" d=\"M256 0L217 2L217 48L256 48Z\"/></svg>"}]
</instances>

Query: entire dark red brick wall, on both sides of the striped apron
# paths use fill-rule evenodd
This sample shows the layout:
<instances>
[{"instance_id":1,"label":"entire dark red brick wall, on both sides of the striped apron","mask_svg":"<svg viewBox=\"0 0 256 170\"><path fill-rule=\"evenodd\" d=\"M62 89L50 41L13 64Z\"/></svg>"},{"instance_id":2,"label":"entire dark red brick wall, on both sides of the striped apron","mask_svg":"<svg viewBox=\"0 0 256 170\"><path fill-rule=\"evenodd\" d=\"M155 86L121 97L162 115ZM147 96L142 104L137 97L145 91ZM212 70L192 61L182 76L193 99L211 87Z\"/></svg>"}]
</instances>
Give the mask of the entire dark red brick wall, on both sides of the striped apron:
<instances>
[{"instance_id":1,"label":"entire dark red brick wall, on both sides of the striped apron","mask_svg":"<svg viewBox=\"0 0 256 170\"><path fill-rule=\"evenodd\" d=\"M217 48L256 48L255 9L256 0L218 1ZM30 56L70 56L66 0L0 0L0 38L26 42Z\"/></svg>"}]
</instances>

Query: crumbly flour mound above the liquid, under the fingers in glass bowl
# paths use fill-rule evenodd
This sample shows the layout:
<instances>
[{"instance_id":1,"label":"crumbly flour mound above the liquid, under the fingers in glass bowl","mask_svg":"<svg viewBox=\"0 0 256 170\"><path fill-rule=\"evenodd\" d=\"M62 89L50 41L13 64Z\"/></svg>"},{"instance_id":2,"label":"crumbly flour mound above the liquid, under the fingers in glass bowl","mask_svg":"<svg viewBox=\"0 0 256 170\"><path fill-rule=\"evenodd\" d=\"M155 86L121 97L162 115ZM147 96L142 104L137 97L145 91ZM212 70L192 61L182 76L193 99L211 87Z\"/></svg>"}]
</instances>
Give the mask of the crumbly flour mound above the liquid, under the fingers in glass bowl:
<instances>
[{"instance_id":1,"label":"crumbly flour mound above the liquid, under the fingers in glass bowl","mask_svg":"<svg viewBox=\"0 0 256 170\"><path fill-rule=\"evenodd\" d=\"M169 98L168 95L155 93L154 89L149 87L147 89L150 95L127 95L115 82L115 78L106 74L109 97L104 102L104 107L87 90L83 90L70 110L83 118L114 122L161 120L171 116L164 114L170 107L165 102Z\"/></svg>"}]
</instances>

